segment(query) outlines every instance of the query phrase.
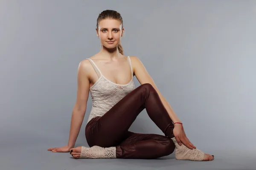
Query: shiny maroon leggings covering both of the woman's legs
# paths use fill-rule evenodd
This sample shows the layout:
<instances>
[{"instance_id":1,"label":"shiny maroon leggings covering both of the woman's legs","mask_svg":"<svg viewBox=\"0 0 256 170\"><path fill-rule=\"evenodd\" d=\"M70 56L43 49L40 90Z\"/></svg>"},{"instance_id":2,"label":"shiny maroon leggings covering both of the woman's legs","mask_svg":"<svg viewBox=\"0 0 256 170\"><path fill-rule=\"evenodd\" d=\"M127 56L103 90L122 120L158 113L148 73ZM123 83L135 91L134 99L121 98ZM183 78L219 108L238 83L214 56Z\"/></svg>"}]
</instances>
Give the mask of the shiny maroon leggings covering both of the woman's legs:
<instances>
[{"instance_id":1,"label":"shiny maroon leggings covering both of the woman's legs","mask_svg":"<svg viewBox=\"0 0 256 170\"><path fill-rule=\"evenodd\" d=\"M165 136L128 131L144 108ZM86 125L85 136L90 147L116 147L116 158L154 159L173 153L173 128L157 91L146 83L127 94L103 116L91 119Z\"/></svg>"}]
</instances>

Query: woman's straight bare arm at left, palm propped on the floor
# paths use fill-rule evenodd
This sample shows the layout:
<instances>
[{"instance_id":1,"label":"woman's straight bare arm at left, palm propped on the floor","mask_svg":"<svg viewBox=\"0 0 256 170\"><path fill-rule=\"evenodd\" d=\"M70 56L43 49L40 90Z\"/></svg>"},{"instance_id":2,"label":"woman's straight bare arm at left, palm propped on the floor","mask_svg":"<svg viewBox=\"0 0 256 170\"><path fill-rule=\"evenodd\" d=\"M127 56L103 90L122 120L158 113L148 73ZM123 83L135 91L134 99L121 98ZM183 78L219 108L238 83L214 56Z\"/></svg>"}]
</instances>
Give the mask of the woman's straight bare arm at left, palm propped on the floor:
<instances>
[{"instance_id":1,"label":"woman's straight bare arm at left, palm propped on the floor","mask_svg":"<svg viewBox=\"0 0 256 170\"><path fill-rule=\"evenodd\" d=\"M53 152L69 152L69 150L75 146L77 136L79 134L82 122L84 120L84 114L86 112L87 100L89 96L89 71L88 61L83 60L79 63L77 71L77 98L76 104L72 111L70 135L68 144L64 147L49 148Z\"/></svg>"}]
</instances>

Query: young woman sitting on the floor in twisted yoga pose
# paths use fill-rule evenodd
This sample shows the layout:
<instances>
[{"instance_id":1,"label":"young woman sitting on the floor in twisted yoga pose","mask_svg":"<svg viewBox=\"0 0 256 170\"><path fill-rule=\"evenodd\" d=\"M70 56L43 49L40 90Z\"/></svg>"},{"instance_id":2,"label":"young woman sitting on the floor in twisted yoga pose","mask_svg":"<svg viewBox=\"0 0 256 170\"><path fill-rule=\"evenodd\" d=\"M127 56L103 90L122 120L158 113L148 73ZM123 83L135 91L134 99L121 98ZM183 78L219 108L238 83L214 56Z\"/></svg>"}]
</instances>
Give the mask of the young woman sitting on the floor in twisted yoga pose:
<instances>
[{"instance_id":1,"label":"young woman sitting on the floor in twisted yoga pose","mask_svg":"<svg viewBox=\"0 0 256 170\"><path fill-rule=\"evenodd\" d=\"M214 156L198 150L186 137L180 119L160 94L140 59L123 55L121 15L113 10L102 11L97 19L96 33L102 49L79 63L77 100L68 144L48 150L70 152L75 159L154 159L175 150L175 157L179 160L213 160ZM137 88L133 82L134 75L141 84ZM90 147L74 148L89 91L93 106L85 136ZM165 136L128 131L144 108Z\"/></svg>"}]
</instances>

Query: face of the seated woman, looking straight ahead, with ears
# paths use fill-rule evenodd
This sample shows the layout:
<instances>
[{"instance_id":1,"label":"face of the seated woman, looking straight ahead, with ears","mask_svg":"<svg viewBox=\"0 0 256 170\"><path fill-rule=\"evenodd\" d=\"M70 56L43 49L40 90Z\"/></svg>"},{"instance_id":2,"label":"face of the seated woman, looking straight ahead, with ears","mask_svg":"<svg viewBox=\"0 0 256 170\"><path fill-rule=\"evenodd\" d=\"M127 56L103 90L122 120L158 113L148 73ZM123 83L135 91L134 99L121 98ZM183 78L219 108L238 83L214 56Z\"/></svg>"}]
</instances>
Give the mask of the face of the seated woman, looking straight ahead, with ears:
<instances>
[{"instance_id":1,"label":"face of the seated woman, looking straight ahead, with ears","mask_svg":"<svg viewBox=\"0 0 256 170\"><path fill-rule=\"evenodd\" d=\"M99 22L99 30L96 29L96 32L102 45L115 48L121 42L124 28L119 20L105 19Z\"/></svg>"}]
</instances>

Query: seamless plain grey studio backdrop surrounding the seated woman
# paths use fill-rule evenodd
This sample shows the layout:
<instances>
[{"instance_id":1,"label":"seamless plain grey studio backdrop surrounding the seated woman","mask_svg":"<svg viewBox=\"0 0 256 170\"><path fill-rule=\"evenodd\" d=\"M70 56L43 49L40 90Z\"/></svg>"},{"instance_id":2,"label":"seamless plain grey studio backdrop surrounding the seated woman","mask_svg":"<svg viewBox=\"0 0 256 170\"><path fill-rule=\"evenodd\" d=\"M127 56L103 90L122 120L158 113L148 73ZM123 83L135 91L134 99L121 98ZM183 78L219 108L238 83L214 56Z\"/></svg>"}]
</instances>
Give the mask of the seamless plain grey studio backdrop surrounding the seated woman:
<instances>
[{"instance_id":1,"label":"seamless plain grey studio backdrop surrounding the seated woman","mask_svg":"<svg viewBox=\"0 0 256 170\"><path fill-rule=\"evenodd\" d=\"M68 142L77 68L100 50L95 27L105 9L121 13L125 55L140 58L196 147L216 159L255 155L255 0L0 0L4 169L73 167L65 164L74 161L69 153L47 149ZM76 146L87 146L84 128L91 106L89 95ZM145 110L130 130L163 134ZM94 167L97 161L91 161ZM108 161L113 160L103 162ZM158 168L127 161L118 166ZM172 166L168 162L167 169Z\"/></svg>"}]
</instances>

